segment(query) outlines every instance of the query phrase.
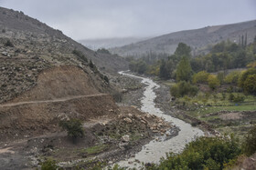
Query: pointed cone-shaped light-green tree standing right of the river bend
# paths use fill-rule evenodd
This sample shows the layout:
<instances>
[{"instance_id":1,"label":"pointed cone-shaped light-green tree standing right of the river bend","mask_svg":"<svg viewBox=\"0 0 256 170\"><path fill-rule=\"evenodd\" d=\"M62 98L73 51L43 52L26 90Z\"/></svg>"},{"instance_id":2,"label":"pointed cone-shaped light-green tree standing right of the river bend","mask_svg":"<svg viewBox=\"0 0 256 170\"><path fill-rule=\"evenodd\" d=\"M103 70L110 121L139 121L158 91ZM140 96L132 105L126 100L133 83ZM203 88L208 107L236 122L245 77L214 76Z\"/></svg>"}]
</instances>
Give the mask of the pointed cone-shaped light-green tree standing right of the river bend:
<instances>
[{"instance_id":1,"label":"pointed cone-shaped light-green tree standing right of the river bend","mask_svg":"<svg viewBox=\"0 0 256 170\"><path fill-rule=\"evenodd\" d=\"M188 57L183 56L176 68L176 81L190 81L192 78L192 69Z\"/></svg>"}]
</instances>

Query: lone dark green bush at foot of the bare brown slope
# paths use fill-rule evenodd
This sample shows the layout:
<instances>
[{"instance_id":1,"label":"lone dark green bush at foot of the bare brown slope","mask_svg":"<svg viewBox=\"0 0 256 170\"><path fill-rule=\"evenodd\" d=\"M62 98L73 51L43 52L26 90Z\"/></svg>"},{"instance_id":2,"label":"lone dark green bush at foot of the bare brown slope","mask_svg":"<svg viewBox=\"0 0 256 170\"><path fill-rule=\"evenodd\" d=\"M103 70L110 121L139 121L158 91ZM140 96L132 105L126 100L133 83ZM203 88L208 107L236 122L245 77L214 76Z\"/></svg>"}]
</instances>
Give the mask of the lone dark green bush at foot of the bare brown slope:
<instances>
[{"instance_id":1,"label":"lone dark green bush at foot of the bare brown slope","mask_svg":"<svg viewBox=\"0 0 256 170\"><path fill-rule=\"evenodd\" d=\"M84 136L84 129L82 123L79 119L70 119L59 121L59 126L63 130L68 131L68 135L73 139Z\"/></svg>"}]
</instances>

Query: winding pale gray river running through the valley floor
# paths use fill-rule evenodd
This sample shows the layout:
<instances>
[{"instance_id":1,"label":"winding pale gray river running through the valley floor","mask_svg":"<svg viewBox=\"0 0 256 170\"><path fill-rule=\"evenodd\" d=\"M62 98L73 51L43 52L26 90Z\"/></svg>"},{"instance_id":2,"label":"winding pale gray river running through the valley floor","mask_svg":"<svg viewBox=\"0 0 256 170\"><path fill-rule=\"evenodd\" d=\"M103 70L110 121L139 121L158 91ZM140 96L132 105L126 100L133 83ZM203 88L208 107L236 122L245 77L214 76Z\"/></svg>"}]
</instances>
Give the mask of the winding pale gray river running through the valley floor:
<instances>
[{"instance_id":1,"label":"winding pale gray river running through the valley floor","mask_svg":"<svg viewBox=\"0 0 256 170\"><path fill-rule=\"evenodd\" d=\"M159 85L155 84L153 80L141 76L130 75L125 72L120 72L120 74L140 78L142 79L142 83L147 85L144 90L144 97L141 99L141 110L143 112L165 118L165 121L171 122L172 125L179 127L180 131L178 135L167 140L164 140L165 136L152 140L149 144L144 145L142 150L135 154L134 157L120 161L117 163L118 165L129 168L139 168L140 164L135 160L139 160L141 163L159 163L160 158L165 157L165 153L179 153L187 143L191 142L198 136L204 135L203 131L197 127L193 127L171 115L165 115L159 108L155 107L156 95L154 90L155 88L159 88Z\"/></svg>"}]
</instances>

